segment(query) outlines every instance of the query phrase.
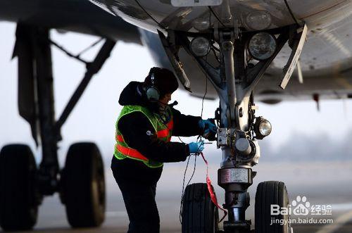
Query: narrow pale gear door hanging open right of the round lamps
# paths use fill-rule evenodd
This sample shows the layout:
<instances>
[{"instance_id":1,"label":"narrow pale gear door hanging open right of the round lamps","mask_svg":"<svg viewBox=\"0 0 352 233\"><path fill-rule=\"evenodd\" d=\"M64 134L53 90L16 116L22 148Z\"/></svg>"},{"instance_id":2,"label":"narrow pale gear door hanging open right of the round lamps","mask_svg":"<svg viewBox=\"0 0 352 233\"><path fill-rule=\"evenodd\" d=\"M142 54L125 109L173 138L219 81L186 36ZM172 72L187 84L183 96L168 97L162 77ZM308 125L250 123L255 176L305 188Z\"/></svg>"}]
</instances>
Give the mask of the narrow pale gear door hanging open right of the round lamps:
<instances>
[{"instance_id":1,"label":"narrow pale gear door hanging open right of the round lamps","mask_svg":"<svg viewBox=\"0 0 352 233\"><path fill-rule=\"evenodd\" d=\"M292 73L294 73L294 68L296 68L298 59L301 56L304 42L306 42L307 32L308 32L308 27L305 24L303 25L302 32L297 34L298 38L294 39L291 56L289 56L289 61L287 61L287 64L284 66L284 77L282 77L282 81L280 84L280 87L282 89L286 88Z\"/></svg>"}]
</instances>

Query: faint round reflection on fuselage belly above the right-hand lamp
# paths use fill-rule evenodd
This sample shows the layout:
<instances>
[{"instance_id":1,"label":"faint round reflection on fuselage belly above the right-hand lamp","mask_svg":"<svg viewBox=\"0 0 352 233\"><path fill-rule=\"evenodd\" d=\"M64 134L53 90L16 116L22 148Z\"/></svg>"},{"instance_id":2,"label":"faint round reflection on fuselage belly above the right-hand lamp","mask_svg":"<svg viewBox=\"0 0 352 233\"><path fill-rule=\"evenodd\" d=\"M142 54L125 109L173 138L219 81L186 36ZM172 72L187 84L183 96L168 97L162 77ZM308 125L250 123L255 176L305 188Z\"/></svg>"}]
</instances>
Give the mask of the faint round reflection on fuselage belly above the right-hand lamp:
<instances>
[{"instance_id":1,"label":"faint round reflection on fuselage belly above the right-hand lamp","mask_svg":"<svg viewBox=\"0 0 352 233\"><path fill-rule=\"evenodd\" d=\"M271 15L268 11L252 11L246 15L246 24L253 30L264 30L271 25Z\"/></svg>"}]
</instances>

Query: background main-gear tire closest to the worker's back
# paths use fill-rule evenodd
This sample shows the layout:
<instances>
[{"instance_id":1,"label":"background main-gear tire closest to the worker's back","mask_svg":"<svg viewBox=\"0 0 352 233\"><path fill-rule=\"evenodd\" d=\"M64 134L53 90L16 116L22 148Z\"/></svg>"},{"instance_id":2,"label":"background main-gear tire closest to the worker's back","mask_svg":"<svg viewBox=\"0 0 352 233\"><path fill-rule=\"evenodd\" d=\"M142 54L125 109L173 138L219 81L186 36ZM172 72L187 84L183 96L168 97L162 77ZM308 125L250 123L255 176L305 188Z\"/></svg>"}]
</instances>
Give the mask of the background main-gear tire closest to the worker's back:
<instances>
[{"instance_id":1,"label":"background main-gear tire closest to the worker's back","mask_svg":"<svg viewBox=\"0 0 352 233\"><path fill-rule=\"evenodd\" d=\"M94 143L70 146L61 177L61 201L71 227L99 227L105 219L103 160Z\"/></svg>"}]
</instances>

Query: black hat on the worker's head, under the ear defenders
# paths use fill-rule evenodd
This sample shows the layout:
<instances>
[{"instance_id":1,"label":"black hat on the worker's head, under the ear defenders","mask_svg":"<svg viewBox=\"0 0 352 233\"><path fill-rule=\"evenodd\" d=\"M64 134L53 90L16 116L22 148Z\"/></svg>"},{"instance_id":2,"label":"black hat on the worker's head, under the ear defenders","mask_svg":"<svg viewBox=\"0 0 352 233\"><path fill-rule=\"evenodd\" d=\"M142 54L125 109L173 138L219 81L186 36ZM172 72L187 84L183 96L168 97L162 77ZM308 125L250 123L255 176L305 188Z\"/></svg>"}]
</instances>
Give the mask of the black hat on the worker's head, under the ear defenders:
<instances>
[{"instance_id":1,"label":"black hat on the worker's head, under the ear defenders","mask_svg":"<svg viewBox=\"0 0 352 233\"><path fill-rule=\"evenodd\" d=\"M177 77L168 69L153 67L144 80L144 87L151 87L151 74L154 74L154 86L158 88L161 96L175 92L178 88Z\"/></svg>"}]
</instances>

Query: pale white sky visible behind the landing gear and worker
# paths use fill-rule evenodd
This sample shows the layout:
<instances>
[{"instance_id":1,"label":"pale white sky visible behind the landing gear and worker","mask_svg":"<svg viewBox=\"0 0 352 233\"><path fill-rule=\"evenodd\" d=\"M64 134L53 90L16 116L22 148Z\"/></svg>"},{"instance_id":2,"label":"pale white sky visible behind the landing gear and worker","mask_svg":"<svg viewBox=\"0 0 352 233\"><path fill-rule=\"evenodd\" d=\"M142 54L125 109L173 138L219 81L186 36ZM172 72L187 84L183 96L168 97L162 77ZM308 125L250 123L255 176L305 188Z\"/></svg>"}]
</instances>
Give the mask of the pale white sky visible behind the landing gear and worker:
<instances>
[{"instance_id":1,"label":"pale white sky visible behind the landing gear and worker","mask_svg":"<svg viewBox=\"0 0 352 233\"><path fill-rule=\"evenodd\" d=\"M15 24L0 22L0 146L10 143L29 144L39 160L40 151L35 149L30 126L20 118L17 108L17 58L11 60L15 43ZM68 32L60 34L51 30L51 39L68 51L78 53L96 41L96 37ZM100 44L101 45L101 44ZM84 54L92 60L99 46ZM56 119L73 94L84 75L84 65L68 58L58 49L52 49L54 69L54 96ZM62 128L59 156L63 161L68 146L77 141L95 141L105 158L111 158L114 146L115 120L120 113L118 104L120 92L132 80L142 81L153 62L144 46L118 42L111 57L95 75ZM189 96L182 88L172 94L177 100L176 108L184 114L200 115L201 99ZM334 146L352 130L352 101L321 101L320 111L315 102L296 101L277 105L256 103L262 115L272 123L272 134L263 140L270 151L283 151L283 146L303 143L315 139ZM204 101L203 118L213 118L218 101ZM351 135L351 134L349 134ZM196 137L184 139L194 141ZM177 141L177 139L175 139ZM215 143L206 146L206 151L215 153ZM301 146L302 147L302 146ZM301 151L304 151L304 146ZM218 151L217 153L221 153ZM348 151L349 153L349 151ZM262 156L264 156L262 154Z\"/></svg>"}]
</instances>

